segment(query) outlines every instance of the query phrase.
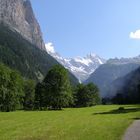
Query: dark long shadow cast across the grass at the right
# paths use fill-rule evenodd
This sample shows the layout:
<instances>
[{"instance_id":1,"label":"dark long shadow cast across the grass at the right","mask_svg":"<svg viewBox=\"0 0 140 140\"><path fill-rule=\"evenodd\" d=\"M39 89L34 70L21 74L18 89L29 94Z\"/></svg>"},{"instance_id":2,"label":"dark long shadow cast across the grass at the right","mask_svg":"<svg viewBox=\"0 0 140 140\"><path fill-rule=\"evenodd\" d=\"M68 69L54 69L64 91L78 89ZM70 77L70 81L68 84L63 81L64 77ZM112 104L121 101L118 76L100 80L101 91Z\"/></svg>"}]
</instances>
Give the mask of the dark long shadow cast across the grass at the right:
<instances>
[{"instance_id":1,"label":"dark long shadow cast across the grass at the right","mask_svg":"<svg viewBox=\"0 0 140 140\"><path fill-rule=\"evenodd\" d=\"M114 109L109 112L99 112L99 113L93 113L93 115L103 115L103 114L121 114L121 113L131 113L131 112L138 112L140 111L140 108L127 108L127 109ZM139 118L140 119L140 118Z\"/></svg>"}]
</instances>

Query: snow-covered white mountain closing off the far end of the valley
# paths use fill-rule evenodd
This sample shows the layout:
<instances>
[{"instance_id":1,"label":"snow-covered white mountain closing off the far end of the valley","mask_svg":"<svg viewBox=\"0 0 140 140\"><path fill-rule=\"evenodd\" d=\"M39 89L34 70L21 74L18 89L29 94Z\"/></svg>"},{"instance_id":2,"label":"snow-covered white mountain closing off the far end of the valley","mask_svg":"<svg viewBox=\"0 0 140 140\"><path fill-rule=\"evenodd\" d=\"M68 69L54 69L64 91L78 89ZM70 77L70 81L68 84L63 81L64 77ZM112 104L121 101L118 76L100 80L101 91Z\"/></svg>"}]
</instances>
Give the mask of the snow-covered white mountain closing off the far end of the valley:
<instances>
[{"instance_id":1,"label":"snow-covered white mountain closing off the far end of the valley","mask_svg":"<svg viewBox=\"0 0 140 140\"><path fill-rule=\"evenodd\" d=\"M52 43L46 44L46 51L65 68L71 71L80 82L85 81L91 73L106 62L105 59L100 58L94 53L90 53L85 57L63 58L60 54L55 52Z\"/></svg>"}]
</instances>

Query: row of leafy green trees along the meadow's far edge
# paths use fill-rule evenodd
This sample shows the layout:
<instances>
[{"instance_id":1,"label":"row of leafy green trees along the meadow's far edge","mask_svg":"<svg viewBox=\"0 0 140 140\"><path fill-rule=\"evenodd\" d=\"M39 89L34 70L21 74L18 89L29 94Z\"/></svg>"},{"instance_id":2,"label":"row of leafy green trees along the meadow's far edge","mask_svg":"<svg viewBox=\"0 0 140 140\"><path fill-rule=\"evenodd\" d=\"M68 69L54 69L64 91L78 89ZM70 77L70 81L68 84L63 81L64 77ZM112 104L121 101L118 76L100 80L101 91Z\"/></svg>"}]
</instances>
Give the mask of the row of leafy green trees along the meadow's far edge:
<instances>
[{"instance_id":1,"label":"row of leafy green trees along the meadow's far edge","mask_svg":"<svg viewBox=\"0 0 140 140\"><path fill-rule=\"evenodd\" d=\"M71 85L68 70L61 65L53 66L42 82L35 83L0 64L0 111L61 110L100 103L97 86L93 83Z\"/></svg>"}]
</instances>

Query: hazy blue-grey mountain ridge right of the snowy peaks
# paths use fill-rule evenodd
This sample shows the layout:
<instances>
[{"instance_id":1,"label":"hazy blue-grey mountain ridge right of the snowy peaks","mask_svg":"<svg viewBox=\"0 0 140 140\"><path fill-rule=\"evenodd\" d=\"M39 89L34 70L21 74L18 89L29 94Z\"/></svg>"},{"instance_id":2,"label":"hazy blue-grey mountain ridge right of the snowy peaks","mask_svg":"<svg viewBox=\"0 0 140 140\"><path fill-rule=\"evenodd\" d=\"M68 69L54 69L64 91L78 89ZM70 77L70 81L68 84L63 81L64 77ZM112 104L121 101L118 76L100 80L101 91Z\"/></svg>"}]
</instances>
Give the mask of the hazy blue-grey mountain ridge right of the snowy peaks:
<instances>
[{"instance_id":1,"label":"hazy blue-grey mountain ridge right of the snowy peaks","mask_svg":"<svg viewBox=\"0 0 140 140\"><path fill-rule=\"evenodd\" d=\"M113 97L116 94L116 92L111 90L114 85L113 82L119 78L123 79L123 77L138 67L140 67L140 56L109 59L105 64L96 69L85 83L94 82L99 87L102 97ZM121 82L119 86L121 86Z\"/></svg>"}]
</instances>

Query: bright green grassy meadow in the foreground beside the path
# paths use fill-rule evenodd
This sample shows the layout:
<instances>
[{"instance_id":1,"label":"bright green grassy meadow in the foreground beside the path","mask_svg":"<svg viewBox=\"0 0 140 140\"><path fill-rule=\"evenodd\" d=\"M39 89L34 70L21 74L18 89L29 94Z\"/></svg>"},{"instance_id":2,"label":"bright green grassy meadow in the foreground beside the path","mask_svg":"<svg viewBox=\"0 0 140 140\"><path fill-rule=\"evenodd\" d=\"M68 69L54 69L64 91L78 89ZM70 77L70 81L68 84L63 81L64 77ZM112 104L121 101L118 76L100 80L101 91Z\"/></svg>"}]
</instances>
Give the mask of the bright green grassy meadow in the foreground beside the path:
<instances>
[{"instance_id":1,"label":"bright green grassy meadow in the foreground beside the path","mask_svg":"<svg viewBox=\"0 0 140 140\"><path fill-rule=\"evenodd\" d=\"M0 140L120 140L139 105L0 113Z\"/></svg>"}]
</instances>

